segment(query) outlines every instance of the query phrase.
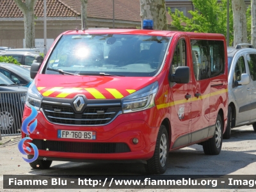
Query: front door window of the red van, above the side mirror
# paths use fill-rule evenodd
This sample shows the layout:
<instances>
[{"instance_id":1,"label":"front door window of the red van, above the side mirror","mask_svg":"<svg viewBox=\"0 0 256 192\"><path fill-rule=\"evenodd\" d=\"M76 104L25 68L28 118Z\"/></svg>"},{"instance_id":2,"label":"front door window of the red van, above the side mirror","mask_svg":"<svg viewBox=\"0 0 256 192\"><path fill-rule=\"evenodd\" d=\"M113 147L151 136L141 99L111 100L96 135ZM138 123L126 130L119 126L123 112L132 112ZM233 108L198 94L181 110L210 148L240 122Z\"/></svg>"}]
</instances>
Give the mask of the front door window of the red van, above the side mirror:
<instances>
[{"instance_id":1,"label":"front door window of the red van, above the side mirror","mask_svg":"<svg viewBox=\"0 0 256 192\"><path fill-rule=\"evenodd\" d=\"M186 42L184 39L180 39L175 47L170 73L174 74L177 67L186 65Z\"/></svg>"}]
</instances>

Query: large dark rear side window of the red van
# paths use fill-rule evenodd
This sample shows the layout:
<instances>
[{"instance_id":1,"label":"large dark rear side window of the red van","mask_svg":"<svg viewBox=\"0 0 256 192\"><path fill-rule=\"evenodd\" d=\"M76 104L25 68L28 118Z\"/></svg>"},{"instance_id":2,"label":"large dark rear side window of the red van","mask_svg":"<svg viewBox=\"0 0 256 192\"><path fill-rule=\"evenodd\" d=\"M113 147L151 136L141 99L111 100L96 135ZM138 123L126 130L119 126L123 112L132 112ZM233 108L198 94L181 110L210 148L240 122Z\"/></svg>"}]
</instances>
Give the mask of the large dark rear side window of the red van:
<instances>
[{"instance_id":1,"label":"large dark rear side window of the red van","mask_svg":"<svg viewBox=\"0 0 256 192\"><path fill-rule=\"evenodd\" d=\"M225 52L223 41L191 40L193 68L197 81L224 73Z\"/></svg>"}]
</instances>

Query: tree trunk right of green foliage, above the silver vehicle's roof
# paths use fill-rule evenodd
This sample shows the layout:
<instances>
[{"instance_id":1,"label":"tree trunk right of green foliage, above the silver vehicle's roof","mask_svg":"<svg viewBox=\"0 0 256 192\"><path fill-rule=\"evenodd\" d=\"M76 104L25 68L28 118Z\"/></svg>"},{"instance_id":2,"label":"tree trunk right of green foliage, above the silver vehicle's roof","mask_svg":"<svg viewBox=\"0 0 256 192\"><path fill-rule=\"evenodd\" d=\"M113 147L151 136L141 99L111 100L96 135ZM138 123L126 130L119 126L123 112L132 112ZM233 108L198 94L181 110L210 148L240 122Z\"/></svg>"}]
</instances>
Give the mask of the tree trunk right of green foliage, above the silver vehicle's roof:
<instances>
[{"instance_id":1,"label":"tree trunk right of green foliage, above the silver vehicle's roof","mask_svg":"<svg viewBox=\"0 0 256 192\"><path fill-rule=\"evenodd\" d=\"M244 0L232 0L234 18L234 46L247 42L246 4Z\"/></svg>"}]
</instances>

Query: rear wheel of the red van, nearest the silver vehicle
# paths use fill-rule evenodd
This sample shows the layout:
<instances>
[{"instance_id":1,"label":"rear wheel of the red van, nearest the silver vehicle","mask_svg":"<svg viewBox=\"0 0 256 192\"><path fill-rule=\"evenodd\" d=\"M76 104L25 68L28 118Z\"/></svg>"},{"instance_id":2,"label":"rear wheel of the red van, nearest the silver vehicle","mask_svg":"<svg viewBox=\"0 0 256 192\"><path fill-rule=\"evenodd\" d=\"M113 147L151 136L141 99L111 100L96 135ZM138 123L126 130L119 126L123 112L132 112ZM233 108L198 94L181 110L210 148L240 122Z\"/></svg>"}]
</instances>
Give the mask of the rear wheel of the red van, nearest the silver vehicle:
<instances>
[{"instance_id":1,"label":"rear wheel of the red van, nearest the silver vehicle","mask_svg":"<svg viewBox=\"0 0 256 192\"><path fill-rule=\"evenodd\" d=\"M223 140L223 124L221 120L220 114L217 116L216 124L215 124L215 133L214 136L204 141L203 148L205 155L218 155L221 151L222 140Z\"/></svg>"}]
</instances>

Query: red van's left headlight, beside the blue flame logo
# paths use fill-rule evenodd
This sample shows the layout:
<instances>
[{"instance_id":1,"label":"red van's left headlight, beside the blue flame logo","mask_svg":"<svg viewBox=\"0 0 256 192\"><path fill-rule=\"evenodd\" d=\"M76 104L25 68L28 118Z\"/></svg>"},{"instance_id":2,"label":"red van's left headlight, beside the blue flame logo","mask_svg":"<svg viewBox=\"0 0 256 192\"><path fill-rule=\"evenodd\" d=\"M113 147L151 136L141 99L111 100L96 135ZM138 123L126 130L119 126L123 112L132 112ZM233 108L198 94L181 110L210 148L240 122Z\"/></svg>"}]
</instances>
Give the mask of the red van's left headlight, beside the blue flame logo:
<instances>
[{"instance_id":1,"label":"red van's left headlight, beside the blue flame logo","mask_svg":"<svg viewBox=\"0 0 256 192\"><path fill-rule=\"evenodd\" d=\"M26 105L31 108L31 106L35 107L37 110L41 107L43 96L38 92L34 81L30 84L28 88L28 93L26 97Z\"/></svg>"}]
</instances>

